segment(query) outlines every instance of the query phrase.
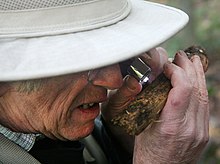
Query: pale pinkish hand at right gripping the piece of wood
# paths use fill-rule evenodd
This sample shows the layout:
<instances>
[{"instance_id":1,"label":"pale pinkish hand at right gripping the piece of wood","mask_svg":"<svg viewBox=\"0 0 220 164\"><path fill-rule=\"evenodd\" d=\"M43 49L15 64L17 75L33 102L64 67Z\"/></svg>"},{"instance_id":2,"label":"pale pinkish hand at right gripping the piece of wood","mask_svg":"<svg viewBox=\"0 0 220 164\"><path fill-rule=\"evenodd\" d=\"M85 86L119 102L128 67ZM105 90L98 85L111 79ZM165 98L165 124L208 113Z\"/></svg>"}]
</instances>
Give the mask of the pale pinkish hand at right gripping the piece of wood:
<instances>
[{"instance_id":1,"label":"pale pinkish hand at right gripping the piece of wood","mask_svg":"<svg viewBox=\"0 0 220 164\"><path fill-rule=\"evenodd\" d=\"M209 105L198 56L183 51L164 65L171 89L160 121L135 139L134 163L194 163L208 142Z\"/></svg>"}]
</instances>

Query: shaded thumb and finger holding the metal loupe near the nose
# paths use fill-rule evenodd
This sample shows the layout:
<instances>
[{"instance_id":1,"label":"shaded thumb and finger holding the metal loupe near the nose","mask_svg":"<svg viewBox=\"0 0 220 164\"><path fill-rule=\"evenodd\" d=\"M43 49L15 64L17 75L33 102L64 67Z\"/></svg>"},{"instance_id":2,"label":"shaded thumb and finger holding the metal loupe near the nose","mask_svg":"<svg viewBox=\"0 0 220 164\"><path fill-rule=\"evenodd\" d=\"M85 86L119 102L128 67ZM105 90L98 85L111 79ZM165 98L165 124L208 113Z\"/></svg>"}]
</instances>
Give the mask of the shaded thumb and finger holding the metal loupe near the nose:
<instances>
[{"instance_id":1,"label":"shaded thumb and finger holding the metal loupe near the nose","mask_svg":"<svg viewBox=\"0 0 220 164\"><path fill-rule=\"evenodd\" d=\"M150 80L153 81L163 71L163 65L167 62L167 52L158 47L142 54L140 58L151 67ZM110 121L115 115L123 111L140 93L141 89L142 86L138 81L127 75L123 86L119 90L109 92L109 101L102 104L102 115L105 121Z\"/></svg>"}]
</instances>

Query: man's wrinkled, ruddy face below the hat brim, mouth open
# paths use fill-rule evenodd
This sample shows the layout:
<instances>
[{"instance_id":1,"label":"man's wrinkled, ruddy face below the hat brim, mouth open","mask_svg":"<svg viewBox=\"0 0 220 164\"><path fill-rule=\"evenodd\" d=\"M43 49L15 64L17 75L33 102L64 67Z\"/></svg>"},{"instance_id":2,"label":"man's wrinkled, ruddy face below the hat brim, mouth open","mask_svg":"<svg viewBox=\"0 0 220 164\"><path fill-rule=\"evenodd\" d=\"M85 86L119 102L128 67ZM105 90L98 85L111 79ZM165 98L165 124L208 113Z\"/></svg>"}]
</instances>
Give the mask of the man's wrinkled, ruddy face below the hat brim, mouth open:
<instances>
[{"instance_id":1,"label":"man's wrinkled, ruddy face below the hat brim, mouth open","mask_svg":"<svg viewBox=\"0 0 220 164\"><path fill-rule=\"evenodd\" d=\"M88 80L89 78L89 80ZM19 132L43 133L50 138L77 140L91 133L107 100L107 89L122 85L118 65L47 78L31 91L19 82L0 97L0 124Z\"/></svg>"}]
</instances>

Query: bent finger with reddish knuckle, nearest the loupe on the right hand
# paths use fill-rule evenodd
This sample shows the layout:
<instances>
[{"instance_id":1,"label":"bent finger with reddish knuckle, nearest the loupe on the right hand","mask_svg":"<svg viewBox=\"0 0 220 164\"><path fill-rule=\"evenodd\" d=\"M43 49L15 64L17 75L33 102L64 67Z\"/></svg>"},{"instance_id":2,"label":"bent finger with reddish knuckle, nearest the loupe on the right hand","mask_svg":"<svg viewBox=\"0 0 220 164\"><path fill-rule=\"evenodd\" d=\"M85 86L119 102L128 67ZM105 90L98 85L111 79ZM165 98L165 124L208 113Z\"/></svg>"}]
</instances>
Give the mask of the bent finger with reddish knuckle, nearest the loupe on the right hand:
<instances>
[{"instance_id":1,"label":"bent finger with reddish knuckle, nearest the loupe on the right hand","mask_svg":"<svg viewBox=\"0 0 220 164\"><path fill-rule=\"evenodd\" d=\"M169 92L162 113L165 113L166 119L183 118L190 103L193 86L185 71L173 63L167 62L164 65L164 73L171 80L173 88Z\"/></svg>"}]
</instances>

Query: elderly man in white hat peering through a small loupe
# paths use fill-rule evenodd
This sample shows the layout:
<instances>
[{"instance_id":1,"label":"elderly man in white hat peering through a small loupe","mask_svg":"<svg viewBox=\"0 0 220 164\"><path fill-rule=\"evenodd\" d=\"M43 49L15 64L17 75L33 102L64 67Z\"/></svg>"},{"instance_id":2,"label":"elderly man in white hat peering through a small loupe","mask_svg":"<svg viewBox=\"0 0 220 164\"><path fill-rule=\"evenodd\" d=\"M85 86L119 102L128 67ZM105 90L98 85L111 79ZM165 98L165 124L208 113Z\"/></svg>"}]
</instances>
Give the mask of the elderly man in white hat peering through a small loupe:
<instances>
[{"instance_id":1,"label":"elderly man in white hat peering through a small loupe","mask_svg":"<svg viewBox=\"0 0 220 164\"><path fill-rule=\"evenodd\" d=\"M184 27L185 13L141 0L8 0L0 7L2 163L89 162L83 138L91 133L99 144L93 151L102 149L108 163L198 159L209 113L200 59L179 51L173 64L164 49L152 49ZM142 89L123 79L118 64L139 55L151 80L163 71L173 88L162 121L133 137L110 120Z\"/></svg>"}]
</instances>

